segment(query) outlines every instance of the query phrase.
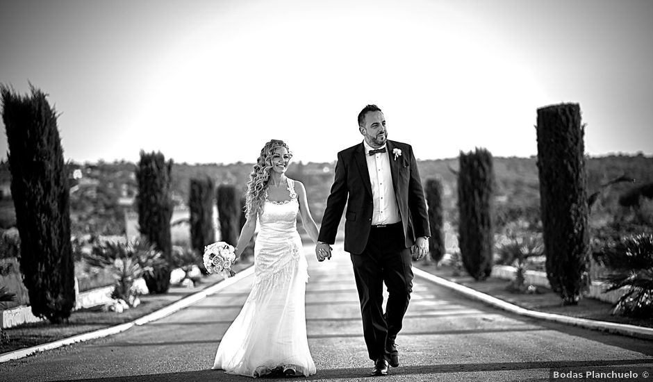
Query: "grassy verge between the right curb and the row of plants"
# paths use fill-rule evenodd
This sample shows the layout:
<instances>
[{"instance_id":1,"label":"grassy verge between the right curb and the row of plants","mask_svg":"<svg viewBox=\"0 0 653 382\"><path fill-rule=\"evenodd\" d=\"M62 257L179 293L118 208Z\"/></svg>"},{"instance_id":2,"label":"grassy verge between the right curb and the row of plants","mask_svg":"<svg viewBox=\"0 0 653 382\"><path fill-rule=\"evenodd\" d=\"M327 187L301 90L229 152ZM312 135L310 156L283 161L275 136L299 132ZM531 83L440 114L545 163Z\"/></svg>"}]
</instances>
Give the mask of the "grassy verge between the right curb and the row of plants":
<instances>
[{"instance_id":1,"label":"grassy verge between the right curb and the row of plants","mask_svg":"<svg viewBox=\"0 0 653 382\"><path fill-rule=\"evenodd\" d=\"M538 294L513 293L506 290L510 282L509 280L497 279L496 277L490 276L485 281L476 281L471 276L465 274L464 271L460 276L453 276L454 269L443 266L436 267L435 263L431 260L422 260L419 263L414 263L414 265L443 279L454 281L529 310L653 328L653 317L634 318L613 315L611 313L613 305L597 299L585 298L581 299L576 306L563 306L562 299L559 295L549 288L538 286L537 288L540 291Z\"/></svg>"}]
</instances>

